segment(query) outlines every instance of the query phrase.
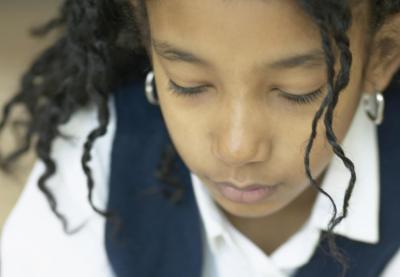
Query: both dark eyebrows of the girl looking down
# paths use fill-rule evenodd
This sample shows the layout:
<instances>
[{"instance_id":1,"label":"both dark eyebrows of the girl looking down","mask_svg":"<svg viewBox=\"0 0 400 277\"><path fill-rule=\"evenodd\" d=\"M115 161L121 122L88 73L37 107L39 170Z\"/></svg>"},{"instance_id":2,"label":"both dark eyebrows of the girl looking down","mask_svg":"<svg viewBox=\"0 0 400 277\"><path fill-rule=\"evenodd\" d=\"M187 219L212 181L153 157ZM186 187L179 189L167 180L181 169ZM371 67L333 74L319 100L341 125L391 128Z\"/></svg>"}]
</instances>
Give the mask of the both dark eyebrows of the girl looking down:
<instances>
[{"instance_id":1,"label":"both dark eyebrows of the girl looking down","mask_svg":"<svg viewBox=\"0 0 400 277\"><path fill-rule=\"evenodd\" d=\"M175 46L167 41L152 39L154 50L161 57L170 61L180 61L209 67L206 59ZM261 64L266 69L291 69L296 67L321 67L325 65L325 54L321 49L312 49L305 53L294 54L272 62Z\"/></svg>"}]
</instances>

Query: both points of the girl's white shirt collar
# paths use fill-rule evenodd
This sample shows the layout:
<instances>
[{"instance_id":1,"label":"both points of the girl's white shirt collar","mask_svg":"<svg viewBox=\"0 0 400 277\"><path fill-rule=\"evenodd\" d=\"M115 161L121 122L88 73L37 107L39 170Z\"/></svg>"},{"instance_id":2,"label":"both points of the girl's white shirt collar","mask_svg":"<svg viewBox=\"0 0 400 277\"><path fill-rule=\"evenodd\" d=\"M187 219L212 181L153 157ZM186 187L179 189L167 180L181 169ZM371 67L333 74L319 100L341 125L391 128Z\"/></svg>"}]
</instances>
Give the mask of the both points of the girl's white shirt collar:
<instances>
[{"instance_id":1,"label":"both points of the girl's white shirt collar","mask_svg":"<svg viewBox=\"0 0 400 277\"><path fill-rule=\"evenodd\" d=\"M350 200L347 217L334 229L334 233L366 243L379 240L379 158L375 125L367 118L360 104L350 129L343 140L343 149L354 165L357 181ZM367 155L365 155L367 152ZM350 173L341 160L333 158L322 182L322 187L334 199L339 214ZM218 238L231 239L232 224L219 210L201 180L191 173L194 193L199 206L205 234L215 251ZM309 221L314 229L326 230L332 215L328 199L319 194Z\"/></svg>"}]
</instances>

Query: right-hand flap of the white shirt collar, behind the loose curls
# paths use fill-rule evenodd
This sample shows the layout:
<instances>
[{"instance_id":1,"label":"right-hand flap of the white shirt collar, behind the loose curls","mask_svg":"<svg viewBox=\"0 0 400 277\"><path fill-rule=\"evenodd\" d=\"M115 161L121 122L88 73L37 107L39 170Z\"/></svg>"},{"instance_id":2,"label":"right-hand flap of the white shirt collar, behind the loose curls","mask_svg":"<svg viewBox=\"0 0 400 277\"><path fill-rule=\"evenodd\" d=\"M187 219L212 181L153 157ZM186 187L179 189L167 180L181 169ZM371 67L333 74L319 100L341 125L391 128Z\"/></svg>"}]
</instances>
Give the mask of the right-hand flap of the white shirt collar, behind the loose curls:
<instances>
[{"instance_id":1,"label":"right-hand flap of the white shirt collar, behind the loose curls","mask_svg":"<svg viewBox=\"0 0 400 277\"><path fill-rule=\"evenodd\" d=\"M348 215L335 228L334 233L352 240L377 243L380 193L378 137L376 126L367 117L361 103L343 140L346 156L354 163L357 181L349 201ZM349 180L350 172L334 156L322 187L337 203L339 214L342 212L344 192ZM311 224L326 230L332 211L332 205L326 197L317 197L310 217Z\"/></svg>"}]
</instances>

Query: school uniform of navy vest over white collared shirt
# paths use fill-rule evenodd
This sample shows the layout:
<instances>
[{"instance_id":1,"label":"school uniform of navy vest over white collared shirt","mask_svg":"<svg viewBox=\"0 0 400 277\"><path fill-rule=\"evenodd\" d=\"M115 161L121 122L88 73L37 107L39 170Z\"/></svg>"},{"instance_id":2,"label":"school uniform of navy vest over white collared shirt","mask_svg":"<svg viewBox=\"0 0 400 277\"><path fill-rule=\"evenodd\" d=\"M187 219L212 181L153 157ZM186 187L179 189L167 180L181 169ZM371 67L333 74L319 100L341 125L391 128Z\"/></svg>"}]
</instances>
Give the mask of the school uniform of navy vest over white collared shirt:
<instances>
[{"instance_id":1,"label":"school uniform of navy vest over white collared shirt","mask_svg":"<svg viewBox=\"0 0 400 277\"><path fill-rule=\"evenodd\" d=\"M400 274L400 94L389 90L383 125L372 125L360 106L344 141L358 177L349 215L335 229L350 257L349 276ZM121 228L87 202L81 146L96 126L95 110L88 108L63 126L76 139L54 143L58 171L49 180L59 210L73 227L85 227L73 236L63 233L36 187L43 172L39 162L4 227L1 276L338 276L340 267L324 254L326 245L318 245L332 212L322 195L301 229L267 256L230 224L179 157L182 201L173 204L161 193L148 193L172 190L154 175L170 138L159 107L145 99L142 81L117 91L110 109L108 133L93 150L94 202L117 213ZM338 207L348 178L334 158L322 186Z\"/></svg>"}]
</instances>

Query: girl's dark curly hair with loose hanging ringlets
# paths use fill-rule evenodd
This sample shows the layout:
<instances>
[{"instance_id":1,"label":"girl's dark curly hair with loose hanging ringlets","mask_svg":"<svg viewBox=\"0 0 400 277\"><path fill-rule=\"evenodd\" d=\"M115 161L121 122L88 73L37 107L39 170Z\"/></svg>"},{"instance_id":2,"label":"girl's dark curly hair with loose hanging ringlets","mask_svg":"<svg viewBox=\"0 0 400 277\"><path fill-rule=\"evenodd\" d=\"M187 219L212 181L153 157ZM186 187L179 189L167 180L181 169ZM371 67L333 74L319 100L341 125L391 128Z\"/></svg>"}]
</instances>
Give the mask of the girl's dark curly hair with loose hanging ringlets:
<instances>
[{"instance_id":1,"label":"girl's dark curly hair with loose hanging ringlets","mask_svg":"<svg viewBox=\"0 0 400 277\"><path fill-rule=\"evenodd\" d=\"M40 190L47 197L51 210L61 220L64 230L71 233L67 220L57 211L57 202L46 181L56 172L56 163L51 158L52 142L63 134L59 126L68 122L82 107L94 104L97 107L98 126L90 132L84 144L82 168L87 177L88 201L99 214L110 217L111 213L98 209L92 201L94 181L88 165L94 142L107 132L110 120L108 100L119 86L132 80L143 80L150 69L146 49L150 45L147 13L144 0L65 0L58 17L43 26L33 29L33 35L43 36L58 31L58 38L32 64L21 80L20 90L5 105L0 121L0 132L12 121L11 111L16 106L28 113L25 132L20 145L8 155L0 155L0 165L8 169L33 145L36 154L45 164L45 172L38 180ZM342 264L346 272L345 256L337 249L333 229L347 215L356 175L354 165L338 143L332 128L333 112L340 93L348 85L352 54L347 31L352 24L352 8L367 4L370 13L370 31L375 32L383 20L399 12L400 0L299 0L299 5L319 27L325 53L328 76L328 92L315 114L312 132L304 156L306 174L311 184L332 202L334 213L328 225L326 237L330 253ZM338 49L338 57L333 48ZM335 72L336 58L340 70ZM334 153L343 161L351 173L345 192L343 213L331 196L317 184L310 170L310 152L316 138L316 127L323 118L326 137ZM169 145L160 157L157 176L174 190L165 191L165 196L179 202L184 186L174 175L174 157L177 152Z\"/></svg>"}]
</instances>

